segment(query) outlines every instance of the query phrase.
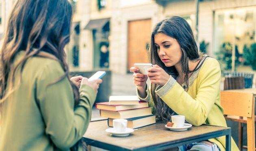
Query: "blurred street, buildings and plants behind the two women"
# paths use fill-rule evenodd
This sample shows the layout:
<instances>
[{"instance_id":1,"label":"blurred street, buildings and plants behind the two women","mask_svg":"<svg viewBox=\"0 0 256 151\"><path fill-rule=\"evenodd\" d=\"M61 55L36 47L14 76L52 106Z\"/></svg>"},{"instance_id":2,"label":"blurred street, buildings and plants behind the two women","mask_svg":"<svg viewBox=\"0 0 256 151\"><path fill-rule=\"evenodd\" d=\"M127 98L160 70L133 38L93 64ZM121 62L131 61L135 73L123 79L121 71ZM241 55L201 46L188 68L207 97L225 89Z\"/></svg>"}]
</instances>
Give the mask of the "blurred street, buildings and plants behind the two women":
<instances>
[{"instance_id":1,"label":"blurred street, buildings and plants behind the two women","mask_svg":"<svg viewBox=\"0 0 256 151\"><path fill-rule=\"evenodd\" d=\"M0 0L0 42L15 1ZM243 88L255 87L256 0L70 2L74 17L71 41L65 48L67 62L72 75L88 77L95 71L107 72L97 102L108 101L110 95L136 95L130 67L149 62L147 48L154 25L174 15L191 25L200 51L219 60L221 90L224 77L237 75L245 77ZM99 118L94 109L92 119ZM231 126L236 132L236 126Z\"/></svg>"}]
</instances>

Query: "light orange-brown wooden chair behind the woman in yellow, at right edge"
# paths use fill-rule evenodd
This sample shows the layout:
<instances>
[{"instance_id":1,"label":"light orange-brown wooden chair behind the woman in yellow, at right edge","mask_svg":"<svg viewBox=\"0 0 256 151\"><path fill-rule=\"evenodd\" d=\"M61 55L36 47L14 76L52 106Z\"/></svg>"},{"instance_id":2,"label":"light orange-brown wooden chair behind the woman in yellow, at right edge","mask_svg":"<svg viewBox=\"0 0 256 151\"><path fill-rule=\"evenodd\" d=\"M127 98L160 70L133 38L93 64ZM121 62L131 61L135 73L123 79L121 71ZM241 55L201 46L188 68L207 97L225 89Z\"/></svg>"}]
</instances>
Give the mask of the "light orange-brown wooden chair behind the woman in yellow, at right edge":
<instances>
[{"instance_id":1,"label":"light orange-brown wooden chair behind the woman in yellow, at right edge","mask_svg":"<svg viewBox=\"0 0 256 151\"><path fill-rule=\"evenodd\" d=\"M247 148L248 151L255 151L254 94L221 91L221 106L224 115L247 117Z\"/></svg>"}]
</instances>

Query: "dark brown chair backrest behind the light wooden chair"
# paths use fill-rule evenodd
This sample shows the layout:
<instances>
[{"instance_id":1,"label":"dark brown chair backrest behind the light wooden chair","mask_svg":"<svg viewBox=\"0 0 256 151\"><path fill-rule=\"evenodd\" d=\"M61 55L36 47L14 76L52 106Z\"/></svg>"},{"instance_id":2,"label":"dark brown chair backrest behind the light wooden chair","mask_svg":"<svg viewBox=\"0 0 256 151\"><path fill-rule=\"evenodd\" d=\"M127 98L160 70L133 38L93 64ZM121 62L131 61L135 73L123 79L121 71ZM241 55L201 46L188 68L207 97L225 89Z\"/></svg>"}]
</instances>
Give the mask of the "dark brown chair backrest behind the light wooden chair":
<instances>
[{"instance_id":1,"label":"dark brown chair backrest behind the light wooden chair","mask_svg":"<svg viewBox=\"0 0 256 151\"><path fill-rule=\"evenodd\" d=\"M234 90L245 88L244 77L225 77L224 90Z\"/></svg>"}]
</instances>

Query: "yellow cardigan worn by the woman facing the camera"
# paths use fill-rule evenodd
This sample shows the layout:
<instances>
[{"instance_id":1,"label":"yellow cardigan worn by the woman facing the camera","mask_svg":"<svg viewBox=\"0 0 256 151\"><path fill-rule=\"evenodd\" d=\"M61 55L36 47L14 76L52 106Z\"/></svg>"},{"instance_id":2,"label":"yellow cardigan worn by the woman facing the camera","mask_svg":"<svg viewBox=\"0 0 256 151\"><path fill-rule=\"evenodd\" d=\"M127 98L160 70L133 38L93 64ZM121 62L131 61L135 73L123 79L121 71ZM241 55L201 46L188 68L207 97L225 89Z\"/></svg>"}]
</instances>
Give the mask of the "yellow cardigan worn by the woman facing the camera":
<instances>
[{"instance_id":1,"label":"yellow cardigan worn by the woman facing the camera","mask_svg":"<svg viewBox=\"0 0 256 151\"><path fill-rule=\"evenodd\" d=\"M170 76L169 81L164 86L158 86L155 93L178 115L185 115L186 121L194 126L210 124L226 127L227 124L220 103L220 81L221 70L218 61L207 58L200 69L189 78L187 92L182 88L184 84L180 86ZM139 98L143 101L150 101L150 104L154 107L148 89L147 92L146 98ZM225 150L225 136L213 138L209 141L218 145L221 151ZM233 139L231 150L239 151Z\"/></svg>"}]
</instances>

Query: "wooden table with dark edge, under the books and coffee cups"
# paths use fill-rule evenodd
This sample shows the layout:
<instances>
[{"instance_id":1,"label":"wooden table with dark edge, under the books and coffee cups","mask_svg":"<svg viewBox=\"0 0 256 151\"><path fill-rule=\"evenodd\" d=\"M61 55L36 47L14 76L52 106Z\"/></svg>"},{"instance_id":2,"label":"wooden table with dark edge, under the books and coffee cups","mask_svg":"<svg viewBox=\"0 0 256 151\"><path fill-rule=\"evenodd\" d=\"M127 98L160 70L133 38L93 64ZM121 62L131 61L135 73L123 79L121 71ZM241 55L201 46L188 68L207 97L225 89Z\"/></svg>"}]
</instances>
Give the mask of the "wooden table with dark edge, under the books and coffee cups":
<instances>
[{"instance_id":1,"label":"wooden table with dark edge, under the books and coffee cups","mask_svg":"<svg viewBox=\"0 0 256 151\"><path fill-rule=\"evenodd\" d=\"M231 128L221 126L192 126L187 131L171 131L165 123L156 123L135 130L126 137L111 136L105 130L109 128L107 121L90 122L83 136L87 145L107 150L163 150L180 145L208 140L226 135L226 151L231 149Z\"/></svg>"}]
</instances>

